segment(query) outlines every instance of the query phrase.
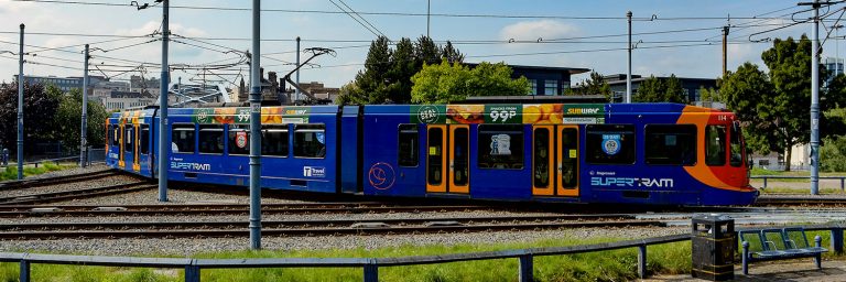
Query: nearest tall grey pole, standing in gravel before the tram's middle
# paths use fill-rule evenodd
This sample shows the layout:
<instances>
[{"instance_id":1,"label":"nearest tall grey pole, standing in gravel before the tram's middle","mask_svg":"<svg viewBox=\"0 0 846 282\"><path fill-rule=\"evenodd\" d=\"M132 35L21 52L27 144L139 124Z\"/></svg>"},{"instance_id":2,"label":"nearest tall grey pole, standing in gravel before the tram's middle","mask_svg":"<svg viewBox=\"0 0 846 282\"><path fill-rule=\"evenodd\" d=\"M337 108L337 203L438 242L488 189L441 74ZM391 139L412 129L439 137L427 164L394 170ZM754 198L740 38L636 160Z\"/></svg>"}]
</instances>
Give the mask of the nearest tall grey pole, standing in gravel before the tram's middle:
<instances>
[{"instance_id":1,"label":"nearest tall grey pole, standing in gravel before the tram's middle","mask_svg":"<svg viewBox=\"0 0 846 282\"><path fill-rule=\"evenodd\" d=\"M297 56L300 52L296 53ZM250 249L261 249L261 0L252 0L250 62Z\"/></svg>"}]
</instances>

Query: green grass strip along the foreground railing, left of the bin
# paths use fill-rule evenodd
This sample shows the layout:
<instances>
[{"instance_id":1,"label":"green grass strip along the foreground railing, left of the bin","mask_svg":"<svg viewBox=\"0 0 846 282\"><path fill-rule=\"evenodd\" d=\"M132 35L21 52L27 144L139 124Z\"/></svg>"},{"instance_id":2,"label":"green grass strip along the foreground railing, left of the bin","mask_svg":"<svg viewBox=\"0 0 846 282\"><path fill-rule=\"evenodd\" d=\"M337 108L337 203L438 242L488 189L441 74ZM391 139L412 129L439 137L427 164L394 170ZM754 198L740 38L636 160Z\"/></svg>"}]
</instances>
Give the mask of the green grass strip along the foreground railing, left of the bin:
<instances>
[{"instance_id":1,"label":"green grass strip along the foreground railing, left of the bin","mask_svg":"<svg viewBox=\"0 0 846 282\"><path fill-rule=\"evenodd\" d=\"M617 240L623 239L558 238L527 243L402 246L376 250L263 250L200 253L194 258L384 258L560 247ZM647 267L650 273L690 273L691 243L685 241L650 246L648 258ZM637 279L637 249L634 248L571 256L536 257L534 259L534 276L538 281L629 281ZM379 269L379 280L514 281L518 278L518 269L517 259L391 267ZM182 281L183 275L182 270L32 265L33 281ZM0 281L17 281L17 279L18 263L0 263ZM361 269L221 269L202 271L202 281L361 281L362 279Z\"/></svg>"}]
</instances>

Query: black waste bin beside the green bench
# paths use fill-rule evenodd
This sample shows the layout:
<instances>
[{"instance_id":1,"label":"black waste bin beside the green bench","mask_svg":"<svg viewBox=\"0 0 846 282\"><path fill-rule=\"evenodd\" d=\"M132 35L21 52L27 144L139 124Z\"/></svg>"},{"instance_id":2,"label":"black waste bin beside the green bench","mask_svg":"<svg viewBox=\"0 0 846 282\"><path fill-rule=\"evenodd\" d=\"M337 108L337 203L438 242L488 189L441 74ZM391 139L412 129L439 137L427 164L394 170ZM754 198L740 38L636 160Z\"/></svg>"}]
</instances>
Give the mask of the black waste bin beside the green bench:
<instances>
[{"instance_id":1,"label":"black waste bin beside the green bench","mask_svg":"<svg viewBox=\"0 0 846 282\"><path fill-rule=\"evenodd\" d=\"M711 281L735 279L735 220L717 214L695 216L692 220L691 274Z\"/></svg>"}]
</instances>

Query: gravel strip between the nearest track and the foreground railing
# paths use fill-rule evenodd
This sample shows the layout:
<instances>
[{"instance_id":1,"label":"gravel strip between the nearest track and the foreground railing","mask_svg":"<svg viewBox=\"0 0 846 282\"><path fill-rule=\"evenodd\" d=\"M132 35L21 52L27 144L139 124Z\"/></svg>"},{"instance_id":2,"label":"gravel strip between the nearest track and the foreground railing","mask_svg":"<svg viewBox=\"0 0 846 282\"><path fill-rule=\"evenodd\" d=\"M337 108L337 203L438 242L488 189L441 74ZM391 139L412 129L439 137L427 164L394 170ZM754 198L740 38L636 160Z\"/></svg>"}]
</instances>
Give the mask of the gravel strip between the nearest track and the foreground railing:
<instances>
[{"instance_id":1,"label":"gravel strip between the nearest track and the foreground railing","mask_svg":"<svg viewBox=\"0 0 846 282\"><path fill-rule=\"evenodd\" d=\"M491 245L532 242L553 238L648 238L688 232L688 228L577 228L545 231L467 232L437 235L337 236L337 237L264 237L265 250L325 250L395 248L401 246ZM0 251L36 253L74 253L88 256L185 256L219 251L242 251L249 238L198 239L62 239L2 241Z\"/></svg>"}]
</instances>

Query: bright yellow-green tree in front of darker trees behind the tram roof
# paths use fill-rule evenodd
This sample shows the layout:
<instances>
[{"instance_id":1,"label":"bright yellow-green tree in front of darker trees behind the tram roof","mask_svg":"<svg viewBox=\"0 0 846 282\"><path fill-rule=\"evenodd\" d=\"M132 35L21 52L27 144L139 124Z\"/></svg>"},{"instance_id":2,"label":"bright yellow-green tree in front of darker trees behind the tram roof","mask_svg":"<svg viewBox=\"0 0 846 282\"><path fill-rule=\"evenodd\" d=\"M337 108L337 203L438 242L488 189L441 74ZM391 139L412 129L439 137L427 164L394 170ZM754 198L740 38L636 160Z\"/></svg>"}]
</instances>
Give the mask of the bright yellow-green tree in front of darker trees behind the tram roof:
<instances>
[{"instance_id":1,"label":"bright yellow-green tree in front of darker trees behind the tram roof","mask_svg":"<svg viewBox=\"0 0 846 282\"><path fill-rule=\"evenodd\" d=\"M468 96L527 95L531 91L525 77L511 79L511 67L505 63L482 62L470 69L446 59L424 65L411 77L411 100L416 104L449 104Z\"/></svg>"}]
</instances>

